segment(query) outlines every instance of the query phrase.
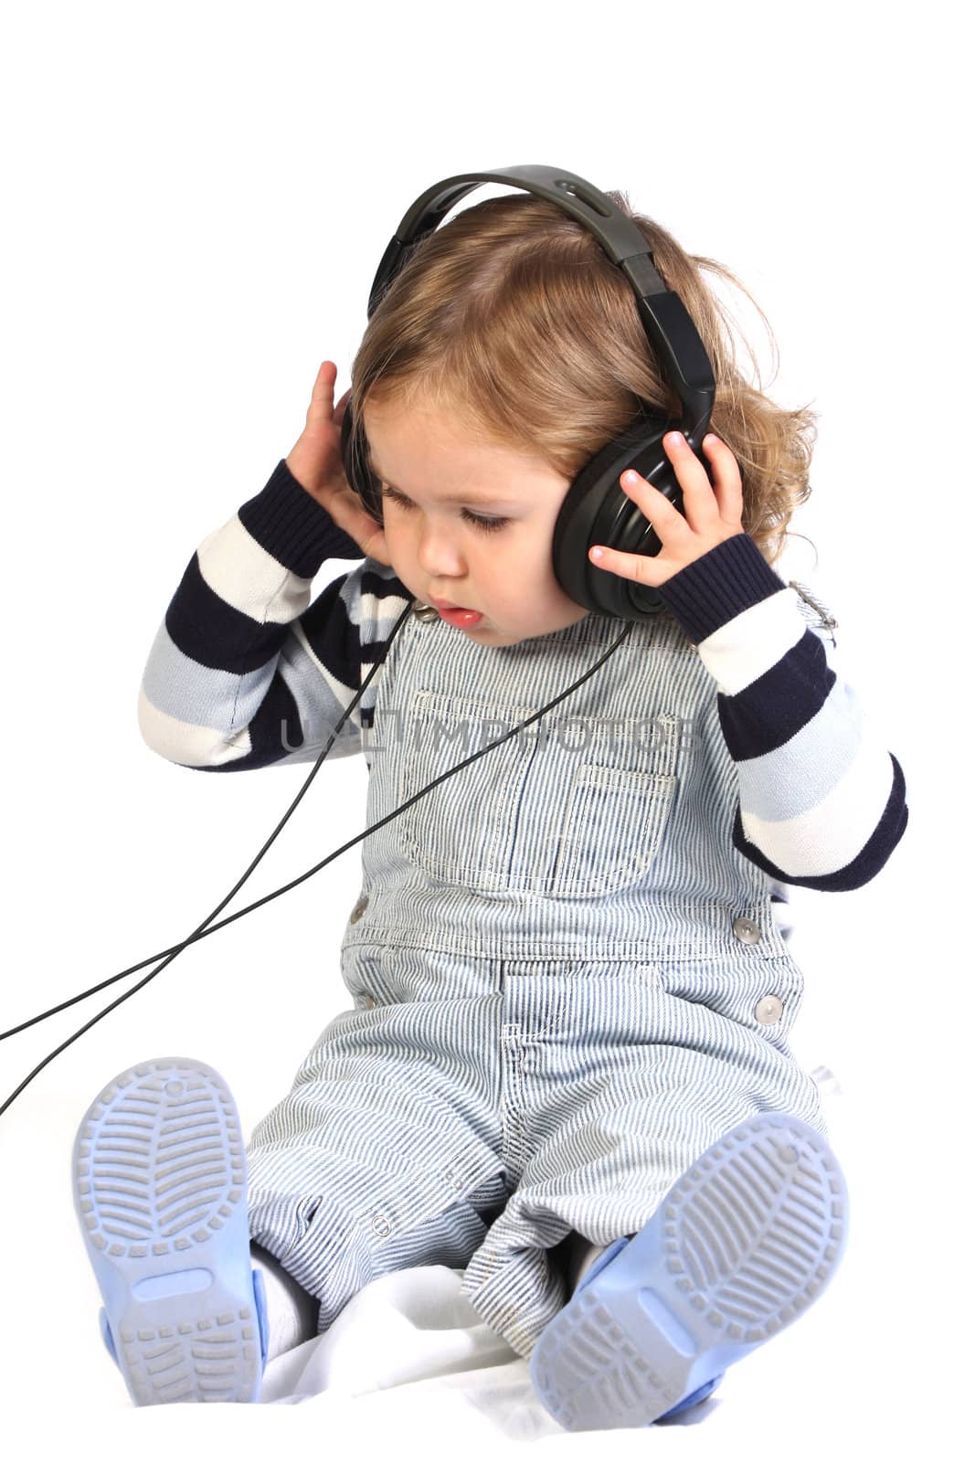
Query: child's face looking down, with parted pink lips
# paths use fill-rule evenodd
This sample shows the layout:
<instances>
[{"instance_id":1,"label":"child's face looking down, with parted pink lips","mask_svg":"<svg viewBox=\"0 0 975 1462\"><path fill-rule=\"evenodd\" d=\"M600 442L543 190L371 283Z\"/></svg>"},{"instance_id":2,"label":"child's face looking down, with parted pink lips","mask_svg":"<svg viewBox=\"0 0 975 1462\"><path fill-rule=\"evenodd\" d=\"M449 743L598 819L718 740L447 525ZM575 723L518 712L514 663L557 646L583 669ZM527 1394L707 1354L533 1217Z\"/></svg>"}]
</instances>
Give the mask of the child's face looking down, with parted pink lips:
<instances>
[{"instance_id":1,"label":"child's face looking down, with parted pink lips","mask_svg":"<svg viewBox=\"0 0 975 1462\"><path fill-rule=\"evenodd\" d=\"M415 598L479 610L482 618L460 633L485 645L550 635L589 613L563 592L551 566L569 478L539 458L465 437L443 412L368 406L364 427L389 558ZM469 515L503 522L481 526Z\"/></svg>"}]
</instances>

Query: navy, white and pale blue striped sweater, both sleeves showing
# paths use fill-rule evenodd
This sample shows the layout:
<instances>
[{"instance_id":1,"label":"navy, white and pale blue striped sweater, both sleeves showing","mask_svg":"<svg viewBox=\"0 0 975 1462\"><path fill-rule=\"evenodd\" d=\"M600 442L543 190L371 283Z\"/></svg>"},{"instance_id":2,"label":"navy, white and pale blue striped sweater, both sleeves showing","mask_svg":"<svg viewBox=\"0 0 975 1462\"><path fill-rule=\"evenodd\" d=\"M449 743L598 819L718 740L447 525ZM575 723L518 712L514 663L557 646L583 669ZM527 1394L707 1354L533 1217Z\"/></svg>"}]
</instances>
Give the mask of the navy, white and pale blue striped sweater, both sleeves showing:
<instances>
[{"instance_id":1,"label":"navy, white and pale blue striped sweater, both sleeves showing","mask_svg":"<svg viewBox=\"0 0 975 1462\"><path fill-rule=\"evenodd\" d=\"M310 602L326 558L363 553L282 459L203 539L170 602L139 689L139 728L153 751L205 772L317 760L412 602L376 558ZM659 592L715 678L738 769L734 846L769 876L778 904L789 883L868 883L906 827L906 784L836 670L836 621L804 586L784 583L747 534ZM329 757L368 760L377 680Z\"/></svg>"}]
</instances>

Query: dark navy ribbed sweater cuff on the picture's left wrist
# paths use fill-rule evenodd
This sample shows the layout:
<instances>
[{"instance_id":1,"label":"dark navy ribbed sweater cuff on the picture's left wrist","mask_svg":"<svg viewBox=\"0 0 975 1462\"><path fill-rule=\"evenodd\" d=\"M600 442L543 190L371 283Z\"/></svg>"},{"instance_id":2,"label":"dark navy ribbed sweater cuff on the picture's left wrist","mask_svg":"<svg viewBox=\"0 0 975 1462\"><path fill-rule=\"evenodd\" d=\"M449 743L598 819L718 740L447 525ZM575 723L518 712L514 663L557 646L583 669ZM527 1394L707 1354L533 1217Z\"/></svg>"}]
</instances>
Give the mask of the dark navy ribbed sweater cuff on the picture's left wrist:
<instances>
[{"instance_id":1,"label":"dark navy ribbed sweater cuff on the picture's left wrist","mask_svg":"<svg viewBox=\"0 0 975 1462\"><path fill-rule=\"evenodd\" d=\"M300 579L314 579L326 558L365 557L327 509L304 490L284 458L237 516L251 538Z\"/></svg>"}]
</instances>

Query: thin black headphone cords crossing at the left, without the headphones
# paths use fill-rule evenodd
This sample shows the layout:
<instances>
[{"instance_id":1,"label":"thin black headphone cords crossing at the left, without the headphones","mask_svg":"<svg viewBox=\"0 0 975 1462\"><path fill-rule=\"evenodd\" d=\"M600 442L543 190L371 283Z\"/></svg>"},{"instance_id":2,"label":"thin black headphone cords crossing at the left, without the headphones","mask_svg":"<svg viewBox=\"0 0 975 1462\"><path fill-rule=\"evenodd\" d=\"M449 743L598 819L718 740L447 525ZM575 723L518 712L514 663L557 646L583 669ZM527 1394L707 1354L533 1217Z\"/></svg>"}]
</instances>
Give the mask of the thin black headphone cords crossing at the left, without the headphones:
<instances>
[{"instance_id":1,"label":"thin black headphone cords crossing at the left, without the headphones","mask_svg":"<svg viewBox=\"0 0 975 1462\"><path fill-rule=\"evenodd\" d=\"M333 852L330 852L327 855L327 858L323 858L322 863L316 863L314 867L308 868L306 873L300 874L297 879L292 879L291 883L282 883L281 887L275 889L270 893L266 893L263 896L263 899L257 899L256 904L249 904L247 908L240 909L240 912L237 912L237 914L231 914L229 918L221 920L221 923L219 924L213 924L212 928L208 927L208 925L210 925L210 921L213 918L216 918L216 915L219 914L219 911L222 908L225 908L227 904L229 904L229 901L234 898L234 895L237 893L237 890L247 882L247 879L250 877L250 874L254 871L254 868L257 867L257 864L260 863L260 860L266 854L268 848L272 845L272 842L275 841L275 838L278 836L278 833L281 832L281 829L284 827L284 825L291 817L291 813L295 810L295 807L298 806L298 803L301 801L301 798L307 792L308 787L311 785L313 778L317 775L317 770L322 766L322 762L325 760L325 757L327 756L327 753L332 750L332 744L333 744L336 735L339 734L339 731L345 725L349 713L358 705L358 702L363 697L363 694L364 694L367 686L370 684L373 675L376 674L376 671L379 670L379 667L386 659L386 655L389 654L392 642L396 637L396 635L399 633L399 629L402 627L403 620L411 613L411 610L412 610L412 601L406 605L406 608L403 610L403 613L396 620L396 624L393 626L393 629L390 632L390 636L389 636L389 639L386 642L383 654L380 655L380 658L376 661L376 664L373 665L373 668L370 670L368 675L365 677L365 680L363 681L363 684L357 690L357 693L352 697L352 700L349 702L349 705L345 708L345 711L344 711L344 713L342 713L342 716L339 719L339 724L335 727L335 730L333 730L332 735L329 737L325 749L319 754L319 759L314 763L314 766L311 768L311 770L310 770L310 773L308 773L308 776L307 776L307 779L306 779L301 791L298 792L298 795L292 801L291 807L288 808L288 811L284 814L284 817L281 819L281 822L278 823L278 826L272 832L272 835L268 839L268 842L263 845L263 848L260 849L260 852L257 854L257 857L253 860L253 863L250 864L250 867L246 870L246 873L237 880L237 883L229 890L229 893L224 899L221 899L221 902L216 905L216 908L213 909L213 912L209 914L208 918L205 918L203 923L199 924L187 939L184 939L180 944L172 944L171 949L168 949L168 950L161 950L159 952L159 953L165 953L167 958L162 961L162 963L156 965L155 969L151 969L149 974L145 977L145 980L140 980L139 984L136 984L136 985L132 987L132 990L127 990L124 996L120 996L117 1000L113 1000L113 1003L108 1004L108 1006L105 1006L104 1010L99 1010L98 1015L92 1016L92 1019L88 1020L86 1025L82 1025L77 1031L75 1031L75 1034L70 1035L67 1038L67 1041L63 1041L61 1045L58 1045L48 1056L45 1056L44 1060L39 1061L34 1067L34 1070L29 1073L29 1076L25 1076L25 1079L20 1082L20 1085L16 1088L16 1091L13 1091L7 1096L7 1099L3 1102L3 1105L0 1107L0 1117L7 1110L7 1107L10 1107L16 1101L16 1098L20 1095L20 1092L25 1089L25 1086L29 1086L29 1083L34 1080L34 1077L39 1072L42 1072L44 1067L48 1066L54 1060L56 1056L60 1056L61 1051L67 1050L67 1047L72 1045L75 1041L77 1041L77 1038L82 1037L85 1034L85 1031L91 1031L91 1028L94 1025L96 1025L101 1019L104 1019L104 1016L107 1016L110 1013L110 1010L114 1010L115 1006L120 1006L124 1000L129 1000L130 996L134 996L137 990L142 990L143 985L148 985L151 980L155 980L155 977L159 974L159 971L165 969L167 965L172 963L172 961L175 959L175 956L178 953L181 953L181 950L184 950L189 944L194 944L197 940L206 939L208 934L215 934L218 928L225 928L228 924L232 924L234 920L243 918L244 914L250 914L253 909L260 908L262 904L269 904L270 899L276 899L276 898L279 898L279 895L287 893L289 889L297 887L298 883L304 883L306 879L310 879L314 873L319 873L320 868L325 868L325 866L329 864L329 863L332 863L333 858L338 858L339 854L345 852L348 848L354 846L357 842L361 842L363 838L368 838L368 835L371 832L376 832L379 827L384 827L387 822L392 822L393 817L398 817L408 807L412 807L414 803L420 801L421 797L425 797L427 792L433 791L434 787L439 787L440 782L444 782L449 776L453 776L456 772L462 770L465 766L469 766L471 762L477 762L478 757L487 756L487 753L493 751L494 747L503 746L506 741L510 741L510 738L513 735L516 735L525 727L532 725L534 721L538 721L541 716L545 715L547 711L551 711L553 706L557 706L561 700L566 699L566 696L572 694L573 690L576 690L586 680L589 680L589 677L593 675L596 673L596 670L599 670L599 667L610 658L610 655L612 655L612 652L615 649L618 649L618 646L623 643L623 640L633 632L633 627L636 624L636 620L627 621L626 627L617 636L617 639L612 642L612 645L610 645L610 648L605 652L605 655L602 655L595 662L595 665L592 665L591 670L588 670L585 673L585 675L580 675L579 680L576 680L572 686L569 686L567 690L563 690L558 696L555 696L554 700L550 700L548 705L542 706L541 711L536 711L532 716L528 716L519 725L516 725L510 731L507 731L503 737L498 737L497 741L490 741L485 747L481 747L479 751L475 751L472 756L465 757L463 762L458 762L456 766L447 768L446 772L441 772L441 775L437 776L433 782L427 782L427 785L422 787L414 797L408 798L408 801L401 803L399 807L395 807L392 813L386 814L386 817L380 817L379 822L373 823L370 827L365 827L364 832L357 833L355 838L351 838L348 842L342 844L342 846L336 848ZM35 1015L29 1020L23 1020L20 1025L13 1026L10 1031L1 1032L0 1034L0 1041L6 1041L7 1037L18 1035L18 1032L20 1032L20 1031L26 1031L28 1026L37 1025L38 1020L45 1020L48 1016L57 1015L58 1010L66 1010L67 1006L76 1004L79 1000L85 1000L85 999L88 999L88 996L96 994L99 990L104 990L107 985L114 984L117 980L124 980L126 975L132 975L132 974L134 974L136 969L142 969L145 965L151 963L153 959L158 959L159 953L149 955L140 963L130 965L129 969L123 969L117 975L111 975L108 980L102 980L101 984L92 985L89 990L83 990L80 994L72 996L70 1000L63 1000L61 1004L51 1006L51 1009L45 1010L42 1015Z\"/></svg>"}]
</instances>

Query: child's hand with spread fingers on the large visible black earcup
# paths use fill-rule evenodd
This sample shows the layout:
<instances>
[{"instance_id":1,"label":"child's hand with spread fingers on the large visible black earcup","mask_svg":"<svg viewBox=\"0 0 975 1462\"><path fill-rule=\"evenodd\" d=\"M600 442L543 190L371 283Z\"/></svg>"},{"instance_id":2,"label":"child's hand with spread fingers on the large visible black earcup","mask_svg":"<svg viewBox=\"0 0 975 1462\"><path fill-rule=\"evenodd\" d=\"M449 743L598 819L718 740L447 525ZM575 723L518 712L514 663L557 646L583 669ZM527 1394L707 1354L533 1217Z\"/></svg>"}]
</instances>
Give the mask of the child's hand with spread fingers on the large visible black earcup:
<instances>
[{"instance_id":1,"label":"child's hand with spread fingers on the large visible black earcup","mask_svg":"<svg viewBox=\"0 0 975 1462\"><path fill-rule=\"evenodd\" d=\"M687 437L680 431L668 431L664 437L664 450L684 497L684 513L680 513L659 488L639 472L623 472L620 477L620 487L633 499L661 539L661 551L648 557L642 553L620 553L618 548L591 548L592 563L621 579L633 579L655 589L725 538L744 532L741 474L735 456L713 433L705 437L702 447L715 478L713 490Z\"/></svg>"}]
</instances>

